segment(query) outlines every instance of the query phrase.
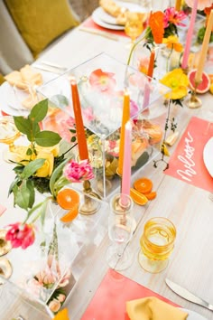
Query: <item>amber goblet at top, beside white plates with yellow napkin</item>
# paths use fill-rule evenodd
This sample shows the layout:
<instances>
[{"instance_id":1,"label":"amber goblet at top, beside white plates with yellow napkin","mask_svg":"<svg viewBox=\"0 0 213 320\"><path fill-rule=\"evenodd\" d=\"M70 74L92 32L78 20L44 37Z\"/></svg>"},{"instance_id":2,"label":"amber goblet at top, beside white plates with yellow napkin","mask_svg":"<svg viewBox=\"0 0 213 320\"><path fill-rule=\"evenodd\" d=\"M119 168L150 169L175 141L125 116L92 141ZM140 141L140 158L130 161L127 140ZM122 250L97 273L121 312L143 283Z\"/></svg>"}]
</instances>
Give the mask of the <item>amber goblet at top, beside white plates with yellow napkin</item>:
<instances>
[{"instance_id":1,"label":"amber goblet at top, beside white plates with yellow napkin","mask_svg":"<svg viewBox=\"0 0 213 320\"><path fill-rule=\"evenodd\" d=\"M131 38L132 45L135 39L144 31L143 19L141 14L128 13L125 22L125 34Z\"/></svg>"}]
</instances>

